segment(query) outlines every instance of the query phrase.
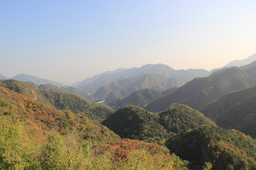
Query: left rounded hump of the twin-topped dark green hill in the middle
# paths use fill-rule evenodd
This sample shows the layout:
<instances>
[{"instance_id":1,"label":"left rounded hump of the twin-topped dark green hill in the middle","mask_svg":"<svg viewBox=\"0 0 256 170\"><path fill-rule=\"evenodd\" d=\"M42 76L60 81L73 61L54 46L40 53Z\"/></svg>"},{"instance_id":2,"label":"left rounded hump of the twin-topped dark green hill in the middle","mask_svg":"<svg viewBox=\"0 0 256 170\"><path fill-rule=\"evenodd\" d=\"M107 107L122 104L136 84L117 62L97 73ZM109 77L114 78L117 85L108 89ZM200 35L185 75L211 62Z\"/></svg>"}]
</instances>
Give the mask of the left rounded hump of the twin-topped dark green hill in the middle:
<instances>
[{"instance_id":1,"label":"left rounded hump of the twin-topped dark green hill in the middle","mask_svg":"<svg viewBox=\"0 0 256 170\"><path fill-rule=\"evenodd\" d=\"M120 137L158 142L170 137L158 123L159 115L136 106L125 106L102 122Z\"/></svg>"}]
</instances>

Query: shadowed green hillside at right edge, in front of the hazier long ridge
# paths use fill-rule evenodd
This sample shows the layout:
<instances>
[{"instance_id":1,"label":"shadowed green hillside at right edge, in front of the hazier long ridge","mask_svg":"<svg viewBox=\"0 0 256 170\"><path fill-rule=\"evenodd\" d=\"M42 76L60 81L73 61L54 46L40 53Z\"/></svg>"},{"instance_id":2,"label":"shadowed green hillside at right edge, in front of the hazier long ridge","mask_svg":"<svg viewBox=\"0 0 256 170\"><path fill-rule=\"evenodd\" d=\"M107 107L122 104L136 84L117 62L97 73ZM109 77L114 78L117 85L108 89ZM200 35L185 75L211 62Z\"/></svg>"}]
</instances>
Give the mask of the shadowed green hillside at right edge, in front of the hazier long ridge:
<instances>
[{"instance_id":1,"label":"shadowed green hillside at right edge, in front of the hazier long ridge","mask_svg":"<svg viewBox=\"0 0 256 170\"><path fill-rule=\"evenodd\" d=\"M256 86L232 91L209 103L201 112L223 128L256 137Z\"/></svg>"}]
</instances>

